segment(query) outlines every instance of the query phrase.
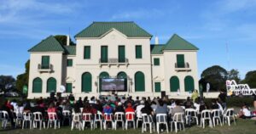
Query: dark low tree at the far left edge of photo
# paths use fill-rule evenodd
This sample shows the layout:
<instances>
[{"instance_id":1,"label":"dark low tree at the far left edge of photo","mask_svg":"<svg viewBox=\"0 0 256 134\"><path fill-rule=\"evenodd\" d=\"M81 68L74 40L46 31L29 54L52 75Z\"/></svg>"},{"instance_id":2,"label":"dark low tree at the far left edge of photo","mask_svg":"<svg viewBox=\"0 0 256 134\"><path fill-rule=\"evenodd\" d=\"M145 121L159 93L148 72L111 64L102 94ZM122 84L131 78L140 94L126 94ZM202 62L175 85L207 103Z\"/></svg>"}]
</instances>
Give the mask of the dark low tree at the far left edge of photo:
<instances>
[{"instance_id":1,"label":"dark low tree at the far left edge of photo","mask_svg":"<svg viewBox=\"0 0 256 134\"><path fill-rule=\"evenodd\" d=\"M0 75L0 91L7 91L15 87L15 78L11 75Z\"/></svg>"}]
</instances>

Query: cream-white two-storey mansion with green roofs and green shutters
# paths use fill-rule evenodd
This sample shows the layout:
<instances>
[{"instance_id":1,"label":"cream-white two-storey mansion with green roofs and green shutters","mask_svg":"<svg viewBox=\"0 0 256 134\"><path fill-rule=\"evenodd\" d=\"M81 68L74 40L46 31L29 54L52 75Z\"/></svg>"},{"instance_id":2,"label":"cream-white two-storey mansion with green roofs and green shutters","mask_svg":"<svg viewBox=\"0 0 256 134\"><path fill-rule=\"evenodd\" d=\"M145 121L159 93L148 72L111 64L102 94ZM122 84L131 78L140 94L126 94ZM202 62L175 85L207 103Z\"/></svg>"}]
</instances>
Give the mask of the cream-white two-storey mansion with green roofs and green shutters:
<instances>
[{"instance_id":1,"label":"cream-white two-storey mansion with green roofs and green shutters","mask_svg":"<svg viewBox=\"0 0 256 134\"><path fill-rule=\"evenodd\" d=\"M101 78L125 78L119 95L186 98L198 90L197 51L174 34L166 44L150 44L152 36L134 22L93 22L63 45L49 36L28 50L28 98L49 97L65 86L76 98L107 95Z\"/></svg>"}]
</instances>

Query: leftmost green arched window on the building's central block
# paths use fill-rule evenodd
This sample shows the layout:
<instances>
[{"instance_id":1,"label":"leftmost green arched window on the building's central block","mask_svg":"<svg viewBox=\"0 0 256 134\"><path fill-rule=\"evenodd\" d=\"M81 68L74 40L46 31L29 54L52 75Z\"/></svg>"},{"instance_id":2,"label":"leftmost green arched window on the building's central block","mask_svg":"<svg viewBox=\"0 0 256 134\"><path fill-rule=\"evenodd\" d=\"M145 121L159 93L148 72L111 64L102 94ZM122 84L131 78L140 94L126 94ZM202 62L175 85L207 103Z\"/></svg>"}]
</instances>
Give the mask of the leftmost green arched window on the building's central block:
<instances>
[{"instance_id":1,"label":"leftmost green arched window on the building's central block","mask_svg":"<svg viewBox=\"0 0 256 134\"><path fill-rule=\"evenodd\" d=\"M91 92L91 75L89 72L85 72L82 75L82 92Z\"/></svg>"}]
</instances>

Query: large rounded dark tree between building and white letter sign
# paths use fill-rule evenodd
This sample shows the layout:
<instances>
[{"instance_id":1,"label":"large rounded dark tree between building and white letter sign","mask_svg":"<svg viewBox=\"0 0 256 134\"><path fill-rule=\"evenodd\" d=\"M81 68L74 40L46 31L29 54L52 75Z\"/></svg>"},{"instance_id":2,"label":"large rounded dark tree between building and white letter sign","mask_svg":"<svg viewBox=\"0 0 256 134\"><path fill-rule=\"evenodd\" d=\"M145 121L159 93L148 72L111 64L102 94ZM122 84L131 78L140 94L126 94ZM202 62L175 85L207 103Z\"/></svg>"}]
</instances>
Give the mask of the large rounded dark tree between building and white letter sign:
<instances>
[{"instance_id":1,"label":"large rounded dark tree between building and white letter sign","mask_svg":"<svg viewBox=\"0 0 256 134\"><path fill-rule=\"evenodd\" d=\"M219 65L213 65L201 73L203 81L210 83L210 91L218 91L225 89L228 72Z\"/></svg>"}]
</instances>

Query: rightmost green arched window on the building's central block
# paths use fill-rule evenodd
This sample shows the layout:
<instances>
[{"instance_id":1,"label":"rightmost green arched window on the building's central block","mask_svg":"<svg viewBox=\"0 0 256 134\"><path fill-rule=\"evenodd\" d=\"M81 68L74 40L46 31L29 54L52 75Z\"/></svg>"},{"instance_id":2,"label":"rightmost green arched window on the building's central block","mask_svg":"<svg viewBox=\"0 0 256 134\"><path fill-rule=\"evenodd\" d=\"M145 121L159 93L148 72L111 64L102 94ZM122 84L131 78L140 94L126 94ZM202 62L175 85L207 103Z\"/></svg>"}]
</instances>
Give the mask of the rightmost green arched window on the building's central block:
<instances>
[{"instance_id":1,"label":"rightmost green arched window on the building's central block","mask_svg":"<svg viewBox=\"0 0 256 134\"><path fill-rule=\"evenodd\" d=\"M145 76L143 72L138 71L134 76L135 81L135 92L145 91Z\"/></svg>"}]
</instances>

